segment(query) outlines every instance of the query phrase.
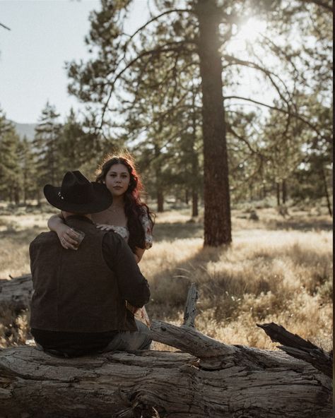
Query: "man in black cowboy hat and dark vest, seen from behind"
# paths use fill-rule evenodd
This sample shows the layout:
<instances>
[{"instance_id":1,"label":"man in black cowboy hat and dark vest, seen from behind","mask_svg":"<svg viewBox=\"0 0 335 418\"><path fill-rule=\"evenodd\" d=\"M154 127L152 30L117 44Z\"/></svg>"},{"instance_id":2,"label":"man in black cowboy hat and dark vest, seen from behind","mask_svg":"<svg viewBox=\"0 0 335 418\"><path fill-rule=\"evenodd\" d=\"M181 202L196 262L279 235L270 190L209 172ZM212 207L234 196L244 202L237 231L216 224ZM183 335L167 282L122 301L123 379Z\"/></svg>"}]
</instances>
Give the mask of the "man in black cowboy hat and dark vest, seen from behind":
<instances>
[{"instance_id":1,"label":"man in black cowboy hat and dark vest, seen from behind","mask_svg":"<svg viewBox=\"0 0 335 418\"><path fill-rule=\"evenodd\" d=\"M77 251L64 249L55 232L30 244L30 327L37 347L64 357L148 349L148 328L126 309L126 301L135 308L148 302L148 282L124 239L91 220L91 213L112 204L110 191L75 171L65 174L61 187L47 184L44 193L85 236Z\"/></svg>"}]
</instances>

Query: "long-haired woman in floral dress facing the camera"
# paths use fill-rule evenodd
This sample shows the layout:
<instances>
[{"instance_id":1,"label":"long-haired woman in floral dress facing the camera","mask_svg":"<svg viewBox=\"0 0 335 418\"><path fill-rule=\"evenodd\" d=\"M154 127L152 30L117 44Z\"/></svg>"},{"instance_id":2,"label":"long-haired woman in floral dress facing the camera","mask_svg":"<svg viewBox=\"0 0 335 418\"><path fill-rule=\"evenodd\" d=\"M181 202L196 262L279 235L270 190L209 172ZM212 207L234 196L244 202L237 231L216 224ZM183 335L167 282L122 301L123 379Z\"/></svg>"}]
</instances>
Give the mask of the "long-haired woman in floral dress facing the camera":
<instances>
[{"instance_id":1,"label":"long-haired woman in floral dress facing the camera","mask_svg":"<svg viewBox=\"0 0 335 418\"><path fill-rule=\"evenodd\" d=\"M107 156L96 178L112 193L113 202L109 208L92 214L92 220L102 230L113 230L129 244L139 263L146 249L153 245L152 229L154 215L141 202L139 192L141 180L130 157ZM64 249L76 249L77 234L64 223L61 215L53 215L47 223L56 232ZM131 307L129 307L131 309ZM145 309L139 312L141 320L148 323Z\"/></svg>"}]
</instances>

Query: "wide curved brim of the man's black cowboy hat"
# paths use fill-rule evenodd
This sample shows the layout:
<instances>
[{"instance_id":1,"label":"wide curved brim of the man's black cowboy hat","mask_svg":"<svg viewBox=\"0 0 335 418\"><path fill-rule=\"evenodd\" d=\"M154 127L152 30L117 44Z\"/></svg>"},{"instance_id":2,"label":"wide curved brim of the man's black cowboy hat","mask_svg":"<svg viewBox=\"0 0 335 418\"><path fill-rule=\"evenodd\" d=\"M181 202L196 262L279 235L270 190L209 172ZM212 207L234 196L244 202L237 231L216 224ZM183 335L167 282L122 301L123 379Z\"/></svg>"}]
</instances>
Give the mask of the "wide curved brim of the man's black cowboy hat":
<instances>
[{"instance_id":1,"label":"wide curved brim of the man's black cowboy hat","mask_svg":"<svg viewBox=\"0 0 335 418\"><path fill-rule=\"evenodd\" d=\"M72 203L66 201L61 196L61 187L55 187L51 184L46 184L43 193L45 198L57 209L65 210L71 213L97 213L105 210L112 205L112 193L107 189L105 184L92 182L93 186L93 199L89 203Z\"/></svg>"}]
</instances>

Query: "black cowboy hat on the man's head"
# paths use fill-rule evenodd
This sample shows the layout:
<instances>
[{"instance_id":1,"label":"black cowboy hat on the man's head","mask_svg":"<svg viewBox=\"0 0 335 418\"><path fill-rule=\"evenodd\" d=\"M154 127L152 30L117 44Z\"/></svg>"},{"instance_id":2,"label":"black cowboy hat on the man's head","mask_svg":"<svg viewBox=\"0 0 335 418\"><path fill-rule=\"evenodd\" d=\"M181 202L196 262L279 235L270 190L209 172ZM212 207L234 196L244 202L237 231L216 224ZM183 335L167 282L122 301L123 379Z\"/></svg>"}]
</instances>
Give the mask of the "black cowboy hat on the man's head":
<instances>
[{"instance_id":1,"label":"black cowboy hat on the man's head","mask_svg":"<svg viewBox=\"0 0 335 418\"><path fill-rule=\"evenodd\" d=\"M71 213L96 213L112 205L112 193L105 184L90 182L79 171L66 172L61 187L47 184L43 192L50 205Z\"/></svg>"}]
</instances>

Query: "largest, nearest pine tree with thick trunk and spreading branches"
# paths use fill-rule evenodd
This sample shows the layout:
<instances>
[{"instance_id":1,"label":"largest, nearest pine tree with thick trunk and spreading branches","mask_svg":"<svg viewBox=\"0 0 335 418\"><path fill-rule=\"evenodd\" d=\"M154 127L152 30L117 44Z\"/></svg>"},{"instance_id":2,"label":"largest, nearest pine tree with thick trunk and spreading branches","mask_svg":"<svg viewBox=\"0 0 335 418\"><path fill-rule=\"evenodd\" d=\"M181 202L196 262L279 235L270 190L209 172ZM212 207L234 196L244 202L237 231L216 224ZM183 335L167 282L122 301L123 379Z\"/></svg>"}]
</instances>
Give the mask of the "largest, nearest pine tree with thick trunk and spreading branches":
<instances>
[{"instance_id":1,"label":"largest, nearest pine tree with thick trunk and spreading branches","mask_svg":"<svg viewBox=\"0 0 335 418\"><path fill-rule=\"evenodd\" d=\"M229 138L234 141L240 138L240 153L247 149L249 155L257 159L255 163L250 158L249 167L257 166L258 163L264 164L265 161L260 152L261 147L250 147L247 145L249 141L245 141L246 138L240 136L238 130L232 129L227 109L233 111L234 100L239 101L240 107L244 103L252 103L286 114L287 126L297 119L319 135L313 121L298 114L296 107L296 98L306 89L312 86L319 91L322 90L320 80L323 80L326 90L328 89L324 80L329 81L329 76L318 69L319 65L328 68L329 59L322 56L328 45L326 49L321 45L322 52L319 54L313 54L305 47L305 41L313 35L310 23L306 23L307 18L317 16L320 22L328 21L324 14L329 13L328 7L321 6L320 11L317 3L296 1L284 4L281 1L267 0L155 0L151 16L131 36L124 34L130 0L103 0L101 11L91 16L91 29L86 42L97 54L86 64L72 63L69 66L69 76L72 80L70 91L85 102L93 102L94 106L101 104L98 128L103 132L118 129L122 125L124 113L131 112L132 107L136 110L141 109L143 105L144 112L138 112L137 117L148 119L146 140L151 144L151 148L148 146L143 152L153 154L157 161L162 158L172 164L176 161L173 152L177 150L177 137L170 135L170 131L175 131L179 138L185 138L179 134L181 124L177 123L177 118L171 121L172 118L169 119L166 115L170 113L175 117L174 108L178 96L187 90L183 88L183 83L186 84L183 75L187 68L192 66L192 81L201 86L206 245L218 246L229 244L231 241ZM328 6L329 2L324 1L323 4ZM236 27L252 13L268 20L270 37L260 37L257 43L247 44L242 56L235 51L228 53L226 45L234 36ZM296 33L301 35L299 48L294 47L295 42L287 42L288 37L293 34L296 36ZM317 44L322 35L313 36ZM275 38L283 42L274 42ZM276 58L273 64L266 59L269 54ZM306 76L305 69L310 58L314 59L316 64L311 66ZM317 63L317 60L321 64ZM240 84L244 68L252 68L263 78L264 91L271 88L276 94L274 104L235 94L235 87ZM318 72L319 77L314 83L310 76L315 72ZM186 82L187 79L186 77ZM192 85L194 83L189 82L189 90L192 89ZM144 102L148 104L143 104ZM151 104L154 104L153 109ZM118 121L120 116L121 120ZM137 124L138 129L135 129L139 132L144 124L142 121L135 121L135 117L132 119L133 126ZM152 129L150 123L153 125ZM247 138L251 135L256 138L256 133L251 133L250 128L240 127L240 131L244 132ZM128 135L131 136L131 131ZM163 143L164 135L169 138L167 145ZM230 158L233 159L234 157ZM162 164L156 164L156 179L163 179L162 168ZM262 176L258 177L261 178ZM157 181L156 186L161 188L158 191L161 193L163 184Z\"/></svg>"}]
</instances>

